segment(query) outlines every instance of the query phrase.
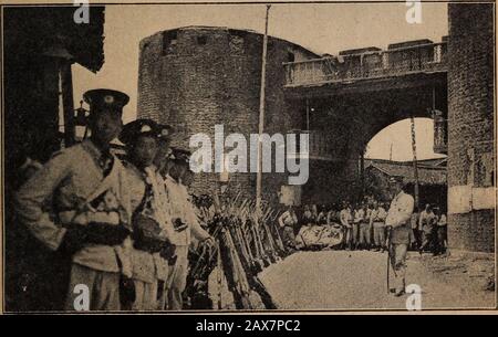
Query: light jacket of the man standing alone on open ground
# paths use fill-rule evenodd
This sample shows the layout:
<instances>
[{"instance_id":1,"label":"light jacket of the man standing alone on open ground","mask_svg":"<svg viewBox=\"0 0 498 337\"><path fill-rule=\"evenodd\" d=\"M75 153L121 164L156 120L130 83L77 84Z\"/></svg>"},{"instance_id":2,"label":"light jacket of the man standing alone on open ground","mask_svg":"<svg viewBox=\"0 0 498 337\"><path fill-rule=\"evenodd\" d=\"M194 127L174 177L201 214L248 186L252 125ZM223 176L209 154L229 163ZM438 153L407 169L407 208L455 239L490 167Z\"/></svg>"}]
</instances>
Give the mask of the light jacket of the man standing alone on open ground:
<instances>
[{"instance_id":1,"label":"light jacket of the man standing alone on open ground","mask_svg":"<svg viewBox=\"0 0 498 337\"><path fill-rule=\"evenodd\" d=\"M393 228L391 242L394 244L409 244L413 241L411 218L414 209L412 196L401 191L391 202L385 224Z\"/></svg>"}]
</instances>

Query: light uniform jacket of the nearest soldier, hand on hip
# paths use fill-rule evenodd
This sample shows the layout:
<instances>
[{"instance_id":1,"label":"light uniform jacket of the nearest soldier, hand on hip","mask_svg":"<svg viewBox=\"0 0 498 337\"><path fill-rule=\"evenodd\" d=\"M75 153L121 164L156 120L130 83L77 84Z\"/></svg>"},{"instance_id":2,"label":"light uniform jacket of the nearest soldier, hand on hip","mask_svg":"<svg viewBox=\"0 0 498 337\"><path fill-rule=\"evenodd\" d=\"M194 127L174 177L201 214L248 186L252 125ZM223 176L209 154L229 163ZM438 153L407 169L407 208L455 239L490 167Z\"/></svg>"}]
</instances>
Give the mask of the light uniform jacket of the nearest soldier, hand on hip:
<instances>
[{"instance_id":1,"label":"light uniform jacket of the nearest soldier, hand on hip","mask_svg":"<svg viewBox=\"0 0 498 337\"><path fill-rule=\"evenodd\" d=\"M58 152L40 169L15 196L15 209L21 222L51 250L56 250L65 234L65 223L59 213L80 212L101 192L111 191L131 221L131 202L125 169L112 157L112 169L106 167L101 151L91 140L84 140ZM73 263L104 272L118 272L113 246L87 244L73 255Z\"/></svg>"}]
</instances>

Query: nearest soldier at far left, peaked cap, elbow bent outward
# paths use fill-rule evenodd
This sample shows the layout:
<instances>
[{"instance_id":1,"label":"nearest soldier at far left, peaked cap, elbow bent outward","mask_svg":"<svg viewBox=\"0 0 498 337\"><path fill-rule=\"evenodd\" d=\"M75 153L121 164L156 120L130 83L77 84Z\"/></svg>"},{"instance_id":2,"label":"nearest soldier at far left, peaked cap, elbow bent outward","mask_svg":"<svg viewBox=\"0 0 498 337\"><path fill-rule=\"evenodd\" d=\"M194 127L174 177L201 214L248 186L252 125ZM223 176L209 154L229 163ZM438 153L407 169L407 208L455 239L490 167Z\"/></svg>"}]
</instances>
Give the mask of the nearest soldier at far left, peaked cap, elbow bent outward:
<instances>
[{"instance_id":1,"label":"nearest soldier at far left, peaked cap, elbow bent outward","mask_svg":"<svg viewBox=\"0 0 498 337\"><path fill-rule=\"evenodd\" d=\"M43 245L71 256L65 309L117 310L117 248L129 235L131 208L125 168L110 152L110 143L122 129L128 96L95 89L84 99L90 104L91 137L55 154L20 188L17 212ZM89 302L81 301L81 285L87 287L83 294Z\"/></svg>"}]
</instances>

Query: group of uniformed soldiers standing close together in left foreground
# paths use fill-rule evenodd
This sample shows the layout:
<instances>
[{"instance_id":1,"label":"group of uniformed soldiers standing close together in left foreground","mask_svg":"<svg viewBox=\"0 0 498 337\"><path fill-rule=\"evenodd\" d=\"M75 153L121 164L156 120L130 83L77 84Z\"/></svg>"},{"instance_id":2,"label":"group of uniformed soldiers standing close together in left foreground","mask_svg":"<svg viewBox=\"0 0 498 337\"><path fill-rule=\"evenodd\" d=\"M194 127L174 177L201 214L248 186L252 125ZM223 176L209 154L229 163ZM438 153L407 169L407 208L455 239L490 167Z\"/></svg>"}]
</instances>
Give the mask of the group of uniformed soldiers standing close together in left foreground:
<instances>
[{"instance_id":1,"label":"group of uniformed soldiers standing close together in left foreground","mask_svg":"<svg viewBox=\"0 0 498 337\"><path fill-rule=\"evenodd\" d=\"M17 222L70 260L59 309L179 310L190 242L214 244L183 182L191 178L188 151L169 148L169 126L149 119L123 126L126 94L94 89L83 97L91 136L19 188ZM111 152L116 137L126 160Z\"/></svg>"}]
</instances>

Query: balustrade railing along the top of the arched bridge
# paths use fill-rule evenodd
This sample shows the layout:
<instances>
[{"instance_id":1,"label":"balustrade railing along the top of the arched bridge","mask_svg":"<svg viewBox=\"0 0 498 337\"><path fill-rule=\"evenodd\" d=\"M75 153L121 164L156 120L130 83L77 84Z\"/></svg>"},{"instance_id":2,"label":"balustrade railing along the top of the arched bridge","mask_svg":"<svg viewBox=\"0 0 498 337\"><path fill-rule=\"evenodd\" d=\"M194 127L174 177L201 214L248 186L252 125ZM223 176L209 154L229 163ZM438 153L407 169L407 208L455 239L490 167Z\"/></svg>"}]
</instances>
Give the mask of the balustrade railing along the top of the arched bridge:
<instances>
[{"instance_id":1,"label":"balustrade railing along the top of the arched bridge","mask_svg":"<svg viewBox=\"0 0 498 337\"><path fill-rule=\"evenodd\" d=\"M446 69L447 42L283 63L286 85L380 78Z\"/></svg>"}]
</instances>

